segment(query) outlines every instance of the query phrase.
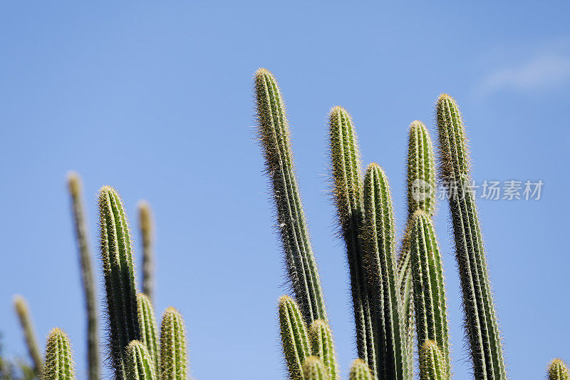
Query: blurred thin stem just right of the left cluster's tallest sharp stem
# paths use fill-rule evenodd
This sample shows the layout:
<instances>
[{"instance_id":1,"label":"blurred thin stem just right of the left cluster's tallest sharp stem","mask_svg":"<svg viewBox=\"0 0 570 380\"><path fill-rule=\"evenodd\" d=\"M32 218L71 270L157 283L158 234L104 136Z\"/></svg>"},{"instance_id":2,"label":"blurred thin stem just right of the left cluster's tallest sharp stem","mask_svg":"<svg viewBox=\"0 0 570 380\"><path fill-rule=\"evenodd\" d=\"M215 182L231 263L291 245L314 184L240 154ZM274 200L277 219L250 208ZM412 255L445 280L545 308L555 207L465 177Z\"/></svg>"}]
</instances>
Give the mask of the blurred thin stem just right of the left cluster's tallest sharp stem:
<instances>
[{"instance_id":1,"label":"blurred thin stem just right of the left cluster's tallest sharp stem","mask_svg":"<svg viewBox=\"0 0 570 380\"><path fill-rule=\"evenodd\" d=\"M151 302L155 296L155 250L152 210L146 200L138 202L138 224L142 239L142 292Z\"/></svg>"}]
</instances>

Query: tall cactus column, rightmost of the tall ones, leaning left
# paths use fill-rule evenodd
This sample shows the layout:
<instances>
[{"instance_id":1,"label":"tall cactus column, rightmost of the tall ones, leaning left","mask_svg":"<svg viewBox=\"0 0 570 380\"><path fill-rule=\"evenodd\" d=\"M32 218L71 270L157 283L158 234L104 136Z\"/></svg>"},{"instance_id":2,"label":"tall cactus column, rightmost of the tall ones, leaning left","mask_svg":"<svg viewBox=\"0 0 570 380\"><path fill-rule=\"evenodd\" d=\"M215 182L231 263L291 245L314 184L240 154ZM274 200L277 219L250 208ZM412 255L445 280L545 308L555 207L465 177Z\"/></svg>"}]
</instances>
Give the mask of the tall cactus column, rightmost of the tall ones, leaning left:
<instances>
[{"instance_id":1,"label":"tall cactus column, rightmost of the tall ones, leaning left","mask_svg":"<svg viewBox=\"0 0 570 380\"><path fill-rule=\"evenodd\" d=\"M449 185L450 214L460 272L466 335L475 379L507 379L499 324L487 273L475 195L468 188L470 158L462 118L455 101L437 101L440 176Z\"/></svg>"}]
</instances>

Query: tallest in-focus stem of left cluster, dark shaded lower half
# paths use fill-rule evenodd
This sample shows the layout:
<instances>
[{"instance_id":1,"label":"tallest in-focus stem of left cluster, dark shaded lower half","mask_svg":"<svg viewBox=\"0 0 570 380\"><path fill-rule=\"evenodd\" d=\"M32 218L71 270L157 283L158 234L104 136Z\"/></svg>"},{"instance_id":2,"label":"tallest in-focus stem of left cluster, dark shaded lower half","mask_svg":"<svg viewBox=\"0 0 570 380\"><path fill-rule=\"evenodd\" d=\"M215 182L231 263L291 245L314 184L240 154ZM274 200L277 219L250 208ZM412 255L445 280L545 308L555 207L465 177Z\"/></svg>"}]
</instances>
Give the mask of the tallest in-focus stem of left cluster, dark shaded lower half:
<instances>
[{"instance_id":1,"label":"tallest in-focus stem of left cluster, dark shaded lower half","mask_svg":"<svg viewBox=\"0 0 570 380\"><path fill-rule=\"evenodd\" d=\"M99 190L98 203L110 356L115 377L123 379L125 349L130 341L140 339L133 248L127 215L115 189L103 186Z\"/></svg>"}]
</instances>

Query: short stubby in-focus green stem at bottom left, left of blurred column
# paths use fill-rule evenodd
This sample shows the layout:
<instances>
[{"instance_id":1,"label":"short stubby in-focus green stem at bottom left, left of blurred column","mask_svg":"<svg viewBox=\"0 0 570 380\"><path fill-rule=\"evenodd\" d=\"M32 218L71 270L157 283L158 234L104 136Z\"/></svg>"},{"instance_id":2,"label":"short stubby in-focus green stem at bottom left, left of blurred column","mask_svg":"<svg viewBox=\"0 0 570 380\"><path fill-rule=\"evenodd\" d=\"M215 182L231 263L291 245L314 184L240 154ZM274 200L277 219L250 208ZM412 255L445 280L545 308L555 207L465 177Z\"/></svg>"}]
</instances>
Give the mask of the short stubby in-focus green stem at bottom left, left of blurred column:
<instances>
[{"instance_id":1,"label":"short stubby in-focus green stem at bottom left, left of blurred column","mask_svg":"<svg viewBox=\"0 0 570 380\"><path fill-rule=\"evenodd\" d=\"M55 328L48 334L46 359L41 371L42 380L75 379L75 365L69 338L63 330Z\"/></svg>"}]
</instances>

